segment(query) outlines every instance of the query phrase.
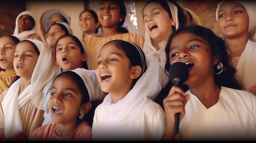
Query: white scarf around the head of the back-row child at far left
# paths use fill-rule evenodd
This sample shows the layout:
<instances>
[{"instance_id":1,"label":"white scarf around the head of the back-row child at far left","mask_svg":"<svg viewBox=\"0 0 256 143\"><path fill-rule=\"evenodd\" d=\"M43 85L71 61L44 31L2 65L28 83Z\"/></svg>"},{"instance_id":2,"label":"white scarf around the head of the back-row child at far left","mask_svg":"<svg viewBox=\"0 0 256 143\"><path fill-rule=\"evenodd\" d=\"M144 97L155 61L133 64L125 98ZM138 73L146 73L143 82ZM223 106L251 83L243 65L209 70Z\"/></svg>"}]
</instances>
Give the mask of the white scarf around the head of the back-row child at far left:
<instances>
[{"instance_id":1,"label":"white scarf around the head of the back-row child at far left","mask_svg":"<svg viewBox=\"0 0 256 143\"><path fill-rule=\"evenodd\" d=\"M18 26L18 19L20 18L21 15L29 15L31 16L34 21L35 21L35 26L29 30L29 31L23 31L21 33L19 33L19 26ZM32 13L31 11L23 11L21 12L17 18L16 18L16 21L15 21L15 29L14 29L14 32L13 32L13 36L15 37L18 37L19 39L25 39L27 36L31 35L31 34L34 34L36 33L36 17L34 16L34 13Z\"/></svg>"}]
</instances>

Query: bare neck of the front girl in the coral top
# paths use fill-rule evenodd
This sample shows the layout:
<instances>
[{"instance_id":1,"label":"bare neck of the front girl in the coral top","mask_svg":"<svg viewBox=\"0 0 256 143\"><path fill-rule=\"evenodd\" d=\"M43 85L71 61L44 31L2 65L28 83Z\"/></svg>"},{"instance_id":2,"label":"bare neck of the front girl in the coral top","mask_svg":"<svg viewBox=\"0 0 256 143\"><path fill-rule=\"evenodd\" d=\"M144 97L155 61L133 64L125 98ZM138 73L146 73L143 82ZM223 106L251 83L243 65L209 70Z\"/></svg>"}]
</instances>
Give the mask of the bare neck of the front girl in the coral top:
<instances>
[{"instance_id":1,"label":"bare neck of the front girl in the coral top","mask_svg":"<svg viewBox=\"0 0 256 143\"><path fill-rule=\"evenodd\" d=\"M79 127L79 125L80 123L76 123L76 121L74 123L68 122L66 124L56 123L55 133L61 137L71 136Z\"/></svg>"}]
</instances>

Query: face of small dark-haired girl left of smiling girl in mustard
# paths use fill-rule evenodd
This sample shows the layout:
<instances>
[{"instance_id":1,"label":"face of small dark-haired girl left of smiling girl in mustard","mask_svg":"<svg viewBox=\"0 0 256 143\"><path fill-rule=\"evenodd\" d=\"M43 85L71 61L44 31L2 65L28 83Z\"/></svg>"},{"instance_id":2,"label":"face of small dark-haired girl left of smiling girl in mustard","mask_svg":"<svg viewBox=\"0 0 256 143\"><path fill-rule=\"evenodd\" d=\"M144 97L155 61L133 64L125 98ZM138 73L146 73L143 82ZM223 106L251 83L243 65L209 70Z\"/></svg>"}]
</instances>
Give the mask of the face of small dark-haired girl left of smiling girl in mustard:
<instances>
[{"instance_id":1,"label":"face of small dark-haired girl left of smiling girl in mustard","mask_svg":"<svg viewBox=\"0 0 256 143\"><path fill-rule=\"evenodd\" d=\"M95 30L97 28L97 23L95 23L95 20L94 20L92 14L88 11L85 11L85 12L81 13L81 17L79 20L79 26L83 32L95 33ZM98 24L98 26L99 26L99 24Z\"/></svg>"}]
</instances>

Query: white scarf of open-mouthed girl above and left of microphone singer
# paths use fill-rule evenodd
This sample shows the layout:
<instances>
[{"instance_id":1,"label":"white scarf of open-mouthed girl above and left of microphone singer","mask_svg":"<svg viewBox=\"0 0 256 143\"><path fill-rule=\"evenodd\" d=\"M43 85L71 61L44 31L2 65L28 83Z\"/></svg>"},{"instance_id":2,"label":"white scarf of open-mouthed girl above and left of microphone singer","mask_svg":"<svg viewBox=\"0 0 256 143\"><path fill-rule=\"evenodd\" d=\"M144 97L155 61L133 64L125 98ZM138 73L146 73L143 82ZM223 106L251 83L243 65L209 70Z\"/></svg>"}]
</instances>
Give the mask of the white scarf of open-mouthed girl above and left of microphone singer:
<instances>
[{"instance_id":1,"label":"white scarf of open-mouthed girl above and left of microphone singer","mask_svg":"<svg viewBox=\"0 0 256 143\"><path fill-rule=\"evenodd\" d=\"M177 7L172 3L166 0L166 2L169 5L169 8L171 10L171 14L172 14L172 18L173 21L175 23L175 29L177 30L179 28L179 20L178 20L178 9ZM170 24L171 26L171 24ZM167 42L167 41L166 41ZM144 42L144 46L143 46L143 51L146 55L146 57L148 55L153 55L155 57L157 57L158 62L159 62L159 84L162 86L162 88L164 88L166 86L166 84L169 81L169 77L168 75L166 75L165 73L165 64L166 64L166 53L165 50L157 50L151 41L151 37L149 36L148 32L145 30L145 42Z\"/></svg>"}]
</instances>

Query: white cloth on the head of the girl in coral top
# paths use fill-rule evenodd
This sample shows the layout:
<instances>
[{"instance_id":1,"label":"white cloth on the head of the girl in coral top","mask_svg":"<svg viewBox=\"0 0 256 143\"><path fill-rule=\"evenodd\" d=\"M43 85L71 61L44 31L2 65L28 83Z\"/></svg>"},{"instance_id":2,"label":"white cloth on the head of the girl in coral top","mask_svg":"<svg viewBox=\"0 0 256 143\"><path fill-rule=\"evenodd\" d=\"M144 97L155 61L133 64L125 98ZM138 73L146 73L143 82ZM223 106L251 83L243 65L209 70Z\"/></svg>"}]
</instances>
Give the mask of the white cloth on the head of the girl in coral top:
<instances>
[{"instance_id":1,"label":"white cloth on the head of the girl in coral top","mask_svg":"<svg viewBox=\"0 0 256 143\"><path fill-rule=\"evenodd\" d=\"M79 75L88 90L90 102L96 101L102 98L103 91L101 90L99 81L96 77L95 70L87 70L85 68L76 68L71 70L77 75Z\"/></svg>"}]
</instances>

